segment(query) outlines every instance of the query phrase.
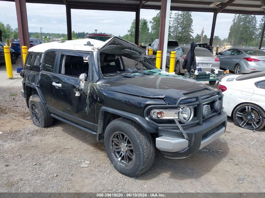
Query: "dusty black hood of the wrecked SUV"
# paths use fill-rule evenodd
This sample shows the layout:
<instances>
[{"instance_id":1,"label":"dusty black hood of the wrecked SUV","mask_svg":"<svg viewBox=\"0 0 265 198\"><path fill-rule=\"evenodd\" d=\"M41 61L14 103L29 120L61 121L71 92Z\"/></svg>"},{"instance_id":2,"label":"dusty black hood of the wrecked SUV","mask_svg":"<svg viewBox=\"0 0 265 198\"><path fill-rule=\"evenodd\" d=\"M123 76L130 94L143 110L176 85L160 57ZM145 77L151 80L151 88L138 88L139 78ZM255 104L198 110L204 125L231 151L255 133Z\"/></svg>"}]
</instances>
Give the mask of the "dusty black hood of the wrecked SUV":
<instances>
[{"instance_id":1,"label":"dusty black hood of the wrecked SUV","mask_svg":"<svg viewBox=\"0 0 265 198\"><path fill-rule=\"evenodd\" d=\"M198 81L179 76L143 75L135 78L108 80L105 89L147 98L179 99L194 90L212 90ZM205 92L204 92L205 93ZM185 94L185 95L183 95ZM198 93L200 94L200 93Z\"/></svg>"}]
</instances>

